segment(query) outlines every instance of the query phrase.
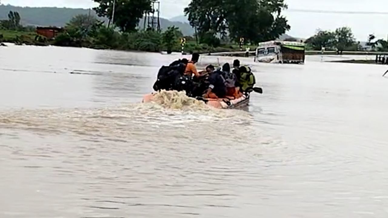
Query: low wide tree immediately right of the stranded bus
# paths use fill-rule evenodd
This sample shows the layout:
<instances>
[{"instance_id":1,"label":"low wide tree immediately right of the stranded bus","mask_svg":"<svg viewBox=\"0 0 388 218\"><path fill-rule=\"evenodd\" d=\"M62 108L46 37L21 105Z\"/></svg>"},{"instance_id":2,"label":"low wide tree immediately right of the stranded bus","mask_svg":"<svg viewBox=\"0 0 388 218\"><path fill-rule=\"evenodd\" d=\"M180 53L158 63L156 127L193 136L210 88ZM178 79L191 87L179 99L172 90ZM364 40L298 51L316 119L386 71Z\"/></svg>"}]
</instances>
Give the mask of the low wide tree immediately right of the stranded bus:
<instances>
[{"instance_id":1,"label":"low wide tree immediately right of the stranded bus","mask_svg":"<svg viewBox=\"0 0 388 218\"><path fill-rule=\"evenodd\" d=\"M314 50L321 50L322 47L327 50L333 49L335 43L335 35L330 31L319 30L317 34L308 38L306 43Z\"/></svg>"}]
</instances>

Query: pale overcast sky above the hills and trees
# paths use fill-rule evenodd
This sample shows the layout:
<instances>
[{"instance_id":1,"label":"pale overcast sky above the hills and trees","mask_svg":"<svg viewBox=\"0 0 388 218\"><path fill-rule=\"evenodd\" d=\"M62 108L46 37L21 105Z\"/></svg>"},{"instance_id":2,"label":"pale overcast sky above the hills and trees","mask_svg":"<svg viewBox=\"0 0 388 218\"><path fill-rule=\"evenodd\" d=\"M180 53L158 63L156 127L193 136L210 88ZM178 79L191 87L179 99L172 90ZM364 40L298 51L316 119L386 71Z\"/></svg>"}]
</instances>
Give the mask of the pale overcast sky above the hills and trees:
<instances>
[{"instance_id":1,"label":"pale overcast sky above the hills and trees","mask_svg":"<svg viewBox=\"0 0 388 218\"><path fill-rule=\"evenodd\" d=\"M92 0L0 0L3 4L30 7L71 7L89 8ZM161 16L170 18L183 14L190 0L160 0ZM308 38L320 29L334 30L341 26L352 28L357 40L365 41L374 33L378 38L388 37L388 1L387 0L286 0L289 9L284 12L291 30L289 35ZM327 14L297 12L302 10L387 12L387 14Z\"/></svg>"}]
</instances>

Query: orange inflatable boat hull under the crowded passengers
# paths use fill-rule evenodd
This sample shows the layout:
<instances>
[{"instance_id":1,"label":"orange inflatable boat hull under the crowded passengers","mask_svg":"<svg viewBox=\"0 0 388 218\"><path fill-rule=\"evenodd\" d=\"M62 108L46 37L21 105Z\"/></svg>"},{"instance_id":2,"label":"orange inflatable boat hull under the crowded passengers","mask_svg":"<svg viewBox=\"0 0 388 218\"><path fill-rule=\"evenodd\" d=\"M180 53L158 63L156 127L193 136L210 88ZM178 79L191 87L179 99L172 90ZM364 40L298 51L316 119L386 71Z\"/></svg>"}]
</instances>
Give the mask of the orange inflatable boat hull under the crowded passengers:
<instances>
[{"instance_id":1,"label":"orange inflatable boat hull under the crowded passengers","mask_svg":"<svg viewBox=\"0 0 388 218\"><path fill-rule=\"evenodd\" d=\"M152 102L154 95L156 93L151 93L143 97L143 103ZM249 94L242 95L240 98L235 99L234 97L226 97L223 99L206 99L206 98L197 98L205 102L207 105L219 109L238 109L246 107L249 104Z\"/></svg>"}]
</instances>

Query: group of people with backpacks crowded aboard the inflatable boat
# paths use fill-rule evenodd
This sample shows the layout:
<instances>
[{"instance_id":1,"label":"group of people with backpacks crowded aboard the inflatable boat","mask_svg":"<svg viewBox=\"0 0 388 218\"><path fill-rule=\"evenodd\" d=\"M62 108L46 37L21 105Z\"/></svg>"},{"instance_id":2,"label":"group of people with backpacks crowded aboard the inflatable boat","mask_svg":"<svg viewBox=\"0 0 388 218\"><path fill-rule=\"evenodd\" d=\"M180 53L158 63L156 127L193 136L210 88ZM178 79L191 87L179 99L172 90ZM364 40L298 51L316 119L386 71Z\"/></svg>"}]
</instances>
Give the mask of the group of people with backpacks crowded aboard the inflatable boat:
<instances>
[{"instance_id":1,"label":"group of people with backpacks crowded aboard the inflatable boat","mask_svg":"<svg viewBox=\"0 0 388 218\"><path fill-rule=\"evenodd\" d=\"M185 91L190 97L206 99L237 99L252 92L255 76L248 66L241 66L239 60L234 60L233 69L225 63L217 69L208 65L204 71L197 70L198 61L199 54L194 53L190 61L182 59L161 67L154 90Z\"/></svg>"}]
</instances>

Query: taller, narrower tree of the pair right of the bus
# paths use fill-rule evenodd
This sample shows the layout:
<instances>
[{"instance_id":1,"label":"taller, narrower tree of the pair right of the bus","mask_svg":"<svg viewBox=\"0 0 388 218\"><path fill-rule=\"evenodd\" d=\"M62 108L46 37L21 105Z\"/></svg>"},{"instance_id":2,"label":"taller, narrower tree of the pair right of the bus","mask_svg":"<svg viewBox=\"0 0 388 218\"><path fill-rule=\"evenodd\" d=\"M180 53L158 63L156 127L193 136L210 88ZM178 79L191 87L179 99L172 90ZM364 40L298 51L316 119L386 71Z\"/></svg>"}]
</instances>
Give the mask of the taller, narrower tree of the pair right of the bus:
<instances>
[{"instance_id":1,"label":"taller, narrower tree of the pair right of the bus","mask_svg":"<svg viewBox=\"0 0 388 218\"><path fill-rule=\"evenodd\" d=\"M334 36L334 46L339 54L342 54L345 50L350 50L350 48L353 48L354 45L357 44L353 36L352 29L348 27L336 29Z\"/></svg>"}]
</instances>

